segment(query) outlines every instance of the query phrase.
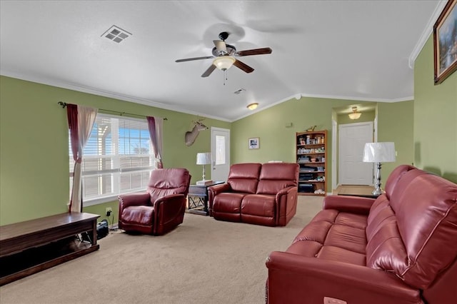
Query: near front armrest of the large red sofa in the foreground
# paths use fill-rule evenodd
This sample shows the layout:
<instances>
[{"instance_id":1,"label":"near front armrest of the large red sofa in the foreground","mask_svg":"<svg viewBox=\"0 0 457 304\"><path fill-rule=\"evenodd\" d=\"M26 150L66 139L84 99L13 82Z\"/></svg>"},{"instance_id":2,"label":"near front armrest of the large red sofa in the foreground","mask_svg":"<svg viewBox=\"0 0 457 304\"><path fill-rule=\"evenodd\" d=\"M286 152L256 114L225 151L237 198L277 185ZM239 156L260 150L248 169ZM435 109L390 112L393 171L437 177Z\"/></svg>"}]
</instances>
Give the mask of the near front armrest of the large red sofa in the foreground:
<instances>
[{"instance_id":1,"label":"near front armrest of the large red sofa in the foreground","mask_svg":"<svg viewBox=\"0 0 457 304\"><path fill-rule=\"evenodd\" d=\"M268 303L423 303L416 288L391 273L361 265L273 251L266 260ZM303 302L303 299L306 299Z\"/></svg>"}]
</instances>

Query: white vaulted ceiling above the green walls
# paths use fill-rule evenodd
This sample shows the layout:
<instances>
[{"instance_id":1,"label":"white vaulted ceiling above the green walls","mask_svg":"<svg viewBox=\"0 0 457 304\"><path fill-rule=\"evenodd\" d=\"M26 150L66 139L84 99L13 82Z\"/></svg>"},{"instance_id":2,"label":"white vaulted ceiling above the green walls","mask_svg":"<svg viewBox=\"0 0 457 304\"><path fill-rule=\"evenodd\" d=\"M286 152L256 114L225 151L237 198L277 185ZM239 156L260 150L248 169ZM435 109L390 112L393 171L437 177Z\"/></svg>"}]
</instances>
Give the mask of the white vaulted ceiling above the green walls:
<instances>
[{"instance_id":1,"label":"white vaulted ceiling above the green walls","mask_svg":"<svg viewBox=\"0 0 457 304\"><path fill-rule=\"evenodd\" d=\"M235 121L295 96L413 98L411 62L443 1L4 1L0 73L126 101ZM116 25L132 36L101 36ZM213 40L238 59L201 78ZM423 42L422 42L423 44ZM432 59L431 59L432 60ZM234 91L243 88L241 94ZM84 101L71 101L84 104ZM254 112L256 112L254 111Z\"/></svg>"}]
</instances>

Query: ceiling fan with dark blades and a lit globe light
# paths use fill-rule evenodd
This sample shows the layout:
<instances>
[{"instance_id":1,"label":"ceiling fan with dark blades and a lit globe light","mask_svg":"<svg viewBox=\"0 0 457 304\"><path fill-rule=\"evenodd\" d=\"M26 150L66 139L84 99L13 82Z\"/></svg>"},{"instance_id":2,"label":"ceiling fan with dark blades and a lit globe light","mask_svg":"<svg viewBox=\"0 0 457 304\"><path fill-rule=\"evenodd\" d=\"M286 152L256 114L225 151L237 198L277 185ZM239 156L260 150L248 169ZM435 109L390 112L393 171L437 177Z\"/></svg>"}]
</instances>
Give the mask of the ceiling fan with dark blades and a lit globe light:
<instances>
[{"instance_id":1,"label":"ceiling fan with dark blades and a lit globe light","mask_svg":"<svg viewBox=\"0 0 457 304\"><path fill-rule=\"evenodd\" d=\"M226 44L225 40L229 37L229 33L223 31L219 34L219 39L221 40L214 40L214 48L213 48L213 56L203 56L203 57L194 57L194 58L186 58L186 59L178 59L176 62L183 62L183 61L193 61L193 60L201 60L201 59L214 59L213 64L209 66L209 68L201 74L201 77L208 77L214 71L214 69L218 68L222 71L226 71L232 65L236 66L238 69L245 71L246 73L251 73L254 69L247 64L239 61L235 57L241 56L251 56L251 55L263 55L263 54L271 54L270 48L261 48L261 49L250 49L245 51L236 51L235 46L231 46L230 44Z\"/></svg>"}]
</instances>

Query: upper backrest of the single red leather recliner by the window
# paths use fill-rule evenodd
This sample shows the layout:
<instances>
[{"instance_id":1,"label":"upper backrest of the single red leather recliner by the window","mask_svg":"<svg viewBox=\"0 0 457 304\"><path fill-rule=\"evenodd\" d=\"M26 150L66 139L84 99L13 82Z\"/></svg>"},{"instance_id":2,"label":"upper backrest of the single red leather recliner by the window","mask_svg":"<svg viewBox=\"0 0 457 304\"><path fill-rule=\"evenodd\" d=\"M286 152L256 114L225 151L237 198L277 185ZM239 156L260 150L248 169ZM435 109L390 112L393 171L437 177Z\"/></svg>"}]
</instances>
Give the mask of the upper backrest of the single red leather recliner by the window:
<instances>
[{"instance_id":1,"label":"upper backrest of the single red leather recliner by the window","mask_svg":"<svg viewBox=\"0 0 457 304\"><path fill-rule=\"evenodd\" d=\"M190 181L191 176L185 168L156 169L151 171L146 192L151 196L151 203L170 194L187 196Z\"/></svg>"}]
</instances>

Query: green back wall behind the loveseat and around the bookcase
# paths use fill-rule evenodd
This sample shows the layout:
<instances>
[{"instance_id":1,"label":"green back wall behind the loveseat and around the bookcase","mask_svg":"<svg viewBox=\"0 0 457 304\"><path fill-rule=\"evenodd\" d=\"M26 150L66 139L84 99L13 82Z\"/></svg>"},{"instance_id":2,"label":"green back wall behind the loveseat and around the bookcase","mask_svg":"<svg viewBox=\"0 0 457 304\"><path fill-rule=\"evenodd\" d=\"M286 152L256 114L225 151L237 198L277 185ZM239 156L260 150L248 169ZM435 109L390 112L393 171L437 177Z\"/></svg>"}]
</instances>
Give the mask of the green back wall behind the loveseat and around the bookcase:
<instances>
[{"instance_id":1,"label":"green back wall behind the loveseat and around the bookcase","mask_svg":"<svg viewBox=\"0 0 457 304\"><path fill-rule=\"evenodd\" d=\"M277 106L255 113L246 118L233 122L231 129L231 160L232 163L244 162L267 162L267 161L295 161L295 133L305 131L310 126L316 126L316 130L326 129L328 132L327 144L327 192L331 192L331 118L333 108L350 106L361 101L348 101L328 98L307 98L299 101L292 98L290 101L280 103ZM381 104L381 103L378 103ZM413 151L412 101L401 103L382 103L383 118L378 127L378 138L393 138L399 141L397 151L399 155L410 155L408 163L411 163ZM396 111L400 109L402 112ZM394 115L392 113L395 113ZM372 114L374 119L374 113ZM368 116L368 115L367 115ZM371 116L370 116L371 117ZM386 121L386 123L384 123ZM395 121L398 130L395 135L389 135L393 128L388 126L388 121ZM338 121L339 122L339 121ZM292 126L290 126L292 124ZM248 138L259 137L260 148L248 149ZM391 168L386 166L383 173L388 176Z\"/></svg>"}]
</instances>

